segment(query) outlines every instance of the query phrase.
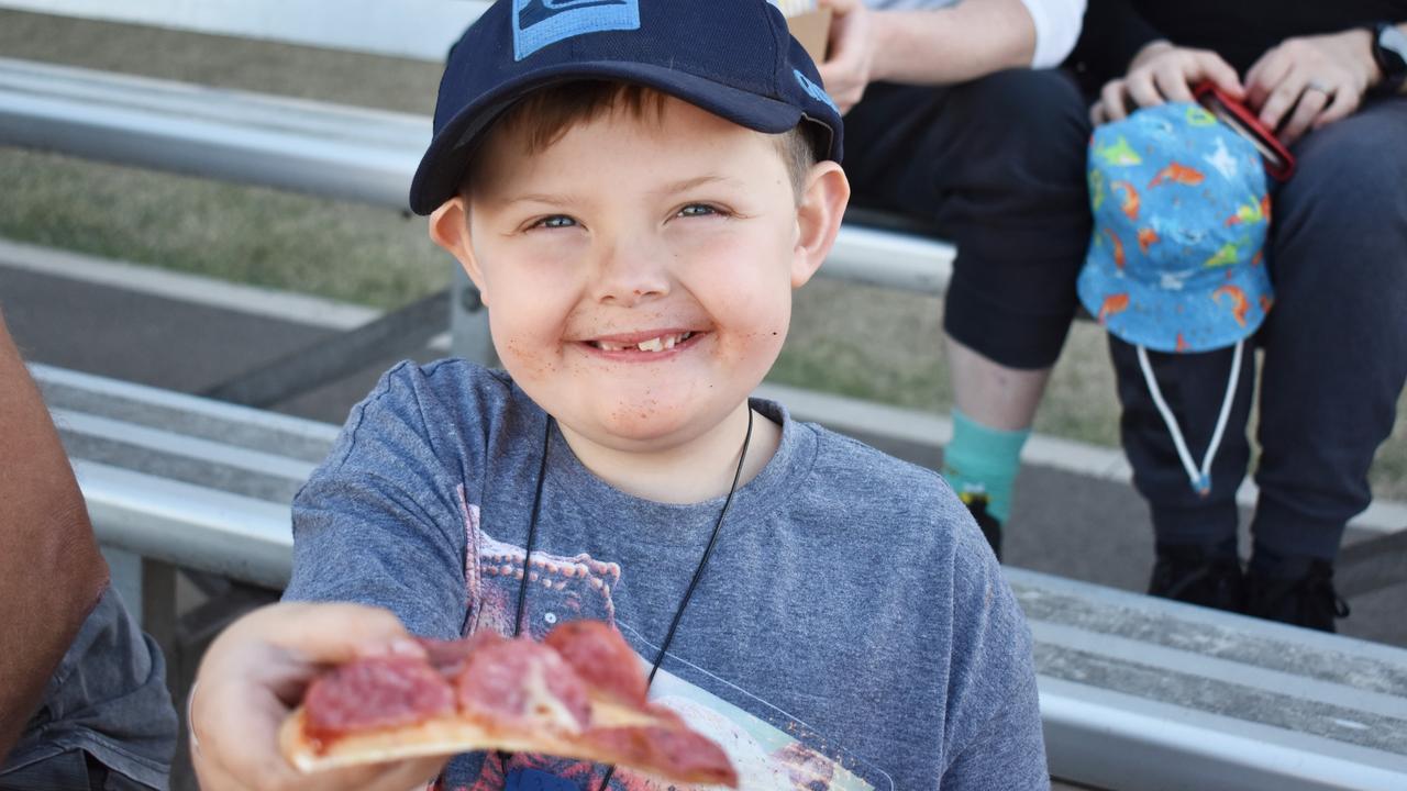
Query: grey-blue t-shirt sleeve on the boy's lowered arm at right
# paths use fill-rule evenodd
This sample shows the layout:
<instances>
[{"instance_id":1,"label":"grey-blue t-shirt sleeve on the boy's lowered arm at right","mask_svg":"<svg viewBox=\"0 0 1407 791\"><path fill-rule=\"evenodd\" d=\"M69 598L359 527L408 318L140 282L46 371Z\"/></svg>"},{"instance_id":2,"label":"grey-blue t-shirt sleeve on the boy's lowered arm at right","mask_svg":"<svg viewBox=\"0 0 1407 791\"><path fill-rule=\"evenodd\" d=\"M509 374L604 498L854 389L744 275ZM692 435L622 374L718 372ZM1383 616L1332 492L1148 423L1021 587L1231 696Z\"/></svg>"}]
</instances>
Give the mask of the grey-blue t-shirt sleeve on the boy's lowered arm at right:
<instances>
[{"instance_id":1,"label":"grey-blue t-shirt sleeve on the boy's lowered arm at right","mask_svg":"<svg viewBox=\"0 0 1407 791\"><path fill-rule=\"evenodd\" d=\"M967 538L964 543L971 543L972 536ZM954 569L948 761L941 788L1047 790L1030 629L991 553L961 549Z\"/></svg>"}]
</instances>

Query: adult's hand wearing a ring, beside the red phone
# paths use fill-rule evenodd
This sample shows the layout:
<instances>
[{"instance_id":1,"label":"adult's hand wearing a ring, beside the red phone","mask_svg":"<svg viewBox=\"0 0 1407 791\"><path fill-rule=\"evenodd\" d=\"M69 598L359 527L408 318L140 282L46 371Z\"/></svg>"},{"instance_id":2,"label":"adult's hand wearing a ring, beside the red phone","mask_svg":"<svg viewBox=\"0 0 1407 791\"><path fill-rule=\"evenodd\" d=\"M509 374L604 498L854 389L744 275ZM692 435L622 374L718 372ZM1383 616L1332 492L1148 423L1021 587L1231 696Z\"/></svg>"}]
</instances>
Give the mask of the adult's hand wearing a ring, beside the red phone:
<instances>
[{"instance_id":1,"label":"adult's hand wearing a ring, beside the red phone","mask_svg":"<svg viewBox=\"0 0 1407 791\"><path fill-rule=\"evenodd\" d=\"M1366 30L1287 38L1245 73L1247 104L1289 145L1358 110L1376 77Z\"/></svg>"}]
</instances>

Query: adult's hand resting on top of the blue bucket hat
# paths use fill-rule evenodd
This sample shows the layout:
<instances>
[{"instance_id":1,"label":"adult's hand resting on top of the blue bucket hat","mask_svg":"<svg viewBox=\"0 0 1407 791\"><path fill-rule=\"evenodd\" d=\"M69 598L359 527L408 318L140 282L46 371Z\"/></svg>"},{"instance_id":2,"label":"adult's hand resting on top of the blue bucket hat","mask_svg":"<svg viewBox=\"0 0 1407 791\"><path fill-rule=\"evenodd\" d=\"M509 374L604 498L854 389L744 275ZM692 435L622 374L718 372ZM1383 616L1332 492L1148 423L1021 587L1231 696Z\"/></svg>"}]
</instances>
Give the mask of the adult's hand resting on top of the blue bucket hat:
<instances>
[{"instance_id":1,"label":"adult's hand resting on top of the blue bucket hat","mask_svg":"<svg viewBox=\"0 0 1407 791\"><path fill-rule=\"evenodd\" d=\"M1245 96L1235 69L1216 52L1155 41L1138 51L1127 75L1104 83L1089 118L1103 124L1120 121L1138 107L1192 101L1192 86L1202 80L1214 82L1231 99Z\"/></svg>"}]
</instances>

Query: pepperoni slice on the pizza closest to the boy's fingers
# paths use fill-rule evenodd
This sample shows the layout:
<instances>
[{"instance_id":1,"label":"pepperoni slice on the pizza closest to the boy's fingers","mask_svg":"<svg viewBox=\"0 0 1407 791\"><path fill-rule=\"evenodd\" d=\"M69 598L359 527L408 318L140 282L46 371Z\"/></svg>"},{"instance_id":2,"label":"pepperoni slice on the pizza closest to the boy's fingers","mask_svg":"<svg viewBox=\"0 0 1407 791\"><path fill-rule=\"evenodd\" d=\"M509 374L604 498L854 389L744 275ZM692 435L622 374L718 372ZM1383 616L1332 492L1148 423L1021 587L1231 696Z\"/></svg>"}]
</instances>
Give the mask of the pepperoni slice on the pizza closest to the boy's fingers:
<instances>
[{"instance_id":1,"label":"pepperoni slice on the pizza closest to the boy's fingers","mask_svg":"<svg viewBox=\"0 0 1407 791\"><path fill-rule=\"evenodd\" d=\"M454 691L428 662L367 657L336 667L308 687L308 735L329 740L353 730L414 725L454 712Z\"/></svg>"}]
</instances>

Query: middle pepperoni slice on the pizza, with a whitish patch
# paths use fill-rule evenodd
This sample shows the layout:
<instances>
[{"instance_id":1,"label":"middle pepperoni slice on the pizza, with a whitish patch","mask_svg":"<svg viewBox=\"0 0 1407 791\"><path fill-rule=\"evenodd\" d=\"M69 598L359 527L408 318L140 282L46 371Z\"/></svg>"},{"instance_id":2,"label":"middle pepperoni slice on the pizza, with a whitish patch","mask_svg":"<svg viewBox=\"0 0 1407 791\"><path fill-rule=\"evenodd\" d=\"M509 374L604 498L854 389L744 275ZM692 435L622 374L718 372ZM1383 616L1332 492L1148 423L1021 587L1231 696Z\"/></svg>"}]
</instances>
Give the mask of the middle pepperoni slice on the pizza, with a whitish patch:
<instances>
[{"instance_id":1,"label":"middle pepperoni slice on the pizza, with a whitish patch","mask_svg":"<svg viewBox=\"0 0 1407 791\"><path fill-rule=\"evenodd\" d=\"M460 711L488 722L552 722L581 730L587 685L557 652L528 639L480 643L454 680Z\"/></svg>"}]
</instances>

